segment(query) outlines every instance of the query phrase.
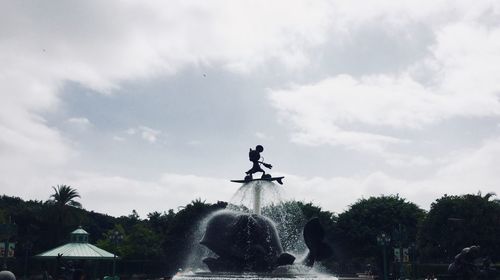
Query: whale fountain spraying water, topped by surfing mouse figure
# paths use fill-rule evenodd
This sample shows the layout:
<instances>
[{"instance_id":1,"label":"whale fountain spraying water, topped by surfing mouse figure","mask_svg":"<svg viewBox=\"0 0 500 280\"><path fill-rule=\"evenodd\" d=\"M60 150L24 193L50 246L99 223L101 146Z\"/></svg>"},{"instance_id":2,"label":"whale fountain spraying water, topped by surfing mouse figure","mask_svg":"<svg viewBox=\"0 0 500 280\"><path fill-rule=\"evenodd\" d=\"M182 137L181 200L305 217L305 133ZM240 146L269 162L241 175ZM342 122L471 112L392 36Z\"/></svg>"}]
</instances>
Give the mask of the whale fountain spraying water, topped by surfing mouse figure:
<instances>
[{"instance_id":1,"label":"whale fountain spraying water, topped by surfing mouse figure","mask_svg":"<svg viewBox=\"0 0 500 280\"><path fill-rule=\"evenodd\" d=\"M316 261L332 254L324 242L319 219L305 223L303 240L296 231L290 234L283 230L289 219L285 218L285 212L274 210L286 202L281 201L282 187L274 182L281 185L284 177L272 177L261 168L261 165L272 168L261 161L263 150L260 145L255 150L250 149L253 167L243 180L232 180L242 185L231 200L231 206L216 211L201 223L203 237L199 243L208 249L202 259L203 267L178 273L174 280L337 279L313 267ZM263 174L254 179L253 174L257 172ZM280 214L273 215L276 212ZM286 240L286 246L282 245L282 240ZM296 245L295 248L292 245ZM196 257L201 257L199 252ZM296 260L298 257L300 261Z\"/></svg>"}]
</instances>

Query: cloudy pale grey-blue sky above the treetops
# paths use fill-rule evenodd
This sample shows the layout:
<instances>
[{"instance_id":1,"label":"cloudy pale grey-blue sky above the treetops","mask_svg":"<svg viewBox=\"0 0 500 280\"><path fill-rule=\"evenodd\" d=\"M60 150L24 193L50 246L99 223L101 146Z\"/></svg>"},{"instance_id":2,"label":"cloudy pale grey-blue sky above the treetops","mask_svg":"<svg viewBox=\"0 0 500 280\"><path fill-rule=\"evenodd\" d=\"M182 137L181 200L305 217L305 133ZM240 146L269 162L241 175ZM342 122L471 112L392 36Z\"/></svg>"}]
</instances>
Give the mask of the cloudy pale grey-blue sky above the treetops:
<instances>
[{"instance_id":1,"label":"cloudy pale grey-blue sky above the treetops","mask_svg":"<svg viewBox=\"0 0 500 280\"><path fill-rule=\"evenodd\" d=\"M257 144L335 213L500 192L499 1L5 0L0 63L0 194L228 201Z\"/></svg>"}]
</instances>

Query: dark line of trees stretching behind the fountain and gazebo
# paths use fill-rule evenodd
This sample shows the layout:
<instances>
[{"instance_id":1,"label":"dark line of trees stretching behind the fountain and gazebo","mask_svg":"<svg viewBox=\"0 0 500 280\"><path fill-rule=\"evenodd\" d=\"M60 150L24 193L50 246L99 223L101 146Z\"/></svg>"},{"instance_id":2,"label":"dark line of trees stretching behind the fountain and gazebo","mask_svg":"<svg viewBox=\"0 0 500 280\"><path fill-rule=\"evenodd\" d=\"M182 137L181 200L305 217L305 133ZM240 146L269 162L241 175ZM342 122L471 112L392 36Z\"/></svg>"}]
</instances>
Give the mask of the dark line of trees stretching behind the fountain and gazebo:
<instances>
[{"instance_id":1,"label":"dark line of trees stretching behind the fountain and gazebo","mask_svg":"<svg viewBox=\"0 0 500 280\"><path fill-rule=\"evenodd\" d=\"M155 261L161 264L161 274L172 275L186 265L184 261L199 235L198 223L213 211L228 207L226 202L196 199L177 210L152 212L142 219L135 210L121 217L85 210L78 198L76 189L64 185L54 187L47 201L0 197L0 224L17 225L13 238L16 261L68 242L69 233L82 226L91 243L115 252L122 261ZM273 209L263 212L278 223L288 223L288 232L299 235L304 221L318 217L334 249L323 265L335 272L346 266L359 270L368 263L380 265L382 250L377 236L381 233L391 237L388 250L409 248L412 262L449 263L470 245L480 245L483 255L498 262L500 201L493 198L492 193L444 195L425 211L398 195L378 196L361 198L342 213L289 201L281 206L284 211L278 211L279 215ZM119 243L111 240L116 233L122 237ZM285 249L287 244L296 243L294 238L297 234L282 237ZM388 256L392 262L394 256Z\"/></svg>"}]
</instances>

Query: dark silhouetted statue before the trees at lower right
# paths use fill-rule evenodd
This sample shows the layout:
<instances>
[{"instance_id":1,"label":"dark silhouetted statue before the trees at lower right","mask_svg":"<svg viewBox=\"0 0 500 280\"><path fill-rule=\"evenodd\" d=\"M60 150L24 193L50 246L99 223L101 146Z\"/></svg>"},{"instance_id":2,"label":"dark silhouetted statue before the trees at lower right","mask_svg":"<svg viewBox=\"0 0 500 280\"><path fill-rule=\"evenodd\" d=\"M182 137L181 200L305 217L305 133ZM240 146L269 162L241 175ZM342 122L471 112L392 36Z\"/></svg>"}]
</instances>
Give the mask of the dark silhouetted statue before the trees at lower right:
<instances>
[{"instance_id":1,"label":"dark silhouetted statue before the trees at lower right","mask_svg":"<svg viewBox=\"0 0 500 280\"><path fill-rule=\"evenodd\" d=\"M474 261L479 257L479 246L463 248L455 256L455 260L448 266L448 272L457 279L474 279L479 275L479 268Z\"/></svg>"}]
</instances>

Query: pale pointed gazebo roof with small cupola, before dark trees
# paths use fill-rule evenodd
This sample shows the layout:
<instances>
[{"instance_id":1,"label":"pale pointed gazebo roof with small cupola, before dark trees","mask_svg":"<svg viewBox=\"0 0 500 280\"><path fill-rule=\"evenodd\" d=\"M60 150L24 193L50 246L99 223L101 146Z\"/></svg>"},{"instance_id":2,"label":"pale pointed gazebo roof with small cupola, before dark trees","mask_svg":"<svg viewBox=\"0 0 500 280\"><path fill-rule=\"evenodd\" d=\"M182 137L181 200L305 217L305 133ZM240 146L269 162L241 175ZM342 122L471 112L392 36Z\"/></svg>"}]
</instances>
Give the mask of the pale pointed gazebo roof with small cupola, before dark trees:
<instances>
[{"instance_id":1,"label":"pale pointed gazebo roof with small cupola, before dark trees","mask_svg":"<svg viewBox=\"0 0 500 280\"><path fill-rule=\"evenodd\" d=\"M82 227L71 232L70 242L35 256L38 259L64 261L116 260L118 256L89 243L89 233ZM94 273L96 267L94 267Z\"/></svg>"}]
</instances>

